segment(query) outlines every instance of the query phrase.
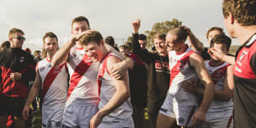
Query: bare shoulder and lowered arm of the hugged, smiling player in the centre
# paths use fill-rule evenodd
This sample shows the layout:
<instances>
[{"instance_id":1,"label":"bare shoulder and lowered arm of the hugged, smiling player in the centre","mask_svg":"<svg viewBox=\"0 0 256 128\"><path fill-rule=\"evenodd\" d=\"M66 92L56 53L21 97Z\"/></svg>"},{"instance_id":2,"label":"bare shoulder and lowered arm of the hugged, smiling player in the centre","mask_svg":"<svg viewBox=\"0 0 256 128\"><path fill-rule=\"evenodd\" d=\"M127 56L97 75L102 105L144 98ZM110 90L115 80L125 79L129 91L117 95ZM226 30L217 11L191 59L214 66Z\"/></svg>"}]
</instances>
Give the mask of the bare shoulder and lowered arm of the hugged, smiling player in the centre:
<instances>
[{"instance_id":1,"label":"bare shoulder and lowered arm of the hugged, smiling player in the centre","mask_svg":"<svg viewBox=\"0 0 256 128\"><path fill-rule=\"evenodd\" d=\"M108 57L107 68L111 69L113 65L118 62L118 58L114 56ZM108 115L108 113L111 113L116 108L119 108L119 106L130 97L127 72L121 79L114 79L114 87L116 91L109 102L102 109L100 109L92 119L90 119L90 128L95 128L97 125L99 125L102 122L102 119Z\"/></svg>"}]
</instances>

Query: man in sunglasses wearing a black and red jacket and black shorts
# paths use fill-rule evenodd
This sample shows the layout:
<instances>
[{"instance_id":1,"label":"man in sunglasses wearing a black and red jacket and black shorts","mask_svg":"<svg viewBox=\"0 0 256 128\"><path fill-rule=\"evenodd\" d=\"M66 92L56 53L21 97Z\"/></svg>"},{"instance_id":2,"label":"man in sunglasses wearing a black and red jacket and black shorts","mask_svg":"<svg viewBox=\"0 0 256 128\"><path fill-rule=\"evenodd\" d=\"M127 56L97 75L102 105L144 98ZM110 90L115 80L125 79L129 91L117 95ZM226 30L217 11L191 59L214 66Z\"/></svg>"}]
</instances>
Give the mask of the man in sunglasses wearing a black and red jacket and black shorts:
<instances>
[{"instance_id":1,"label":"man in sunglasses wearing a black and red jacket and black shorts","mask_svg":"<svg viewBox=\"0 0 256 128\"><path fill-rule=\"evenodd\" d=\"M35 79L35 61L21 49L25 39L22 30L12 28L9 31L11 49L0 52L0 127L6 127L9 114L16 117L16 127L25 127L22 108L29 91L28 82Z\"/></svg>"}]
</instances>

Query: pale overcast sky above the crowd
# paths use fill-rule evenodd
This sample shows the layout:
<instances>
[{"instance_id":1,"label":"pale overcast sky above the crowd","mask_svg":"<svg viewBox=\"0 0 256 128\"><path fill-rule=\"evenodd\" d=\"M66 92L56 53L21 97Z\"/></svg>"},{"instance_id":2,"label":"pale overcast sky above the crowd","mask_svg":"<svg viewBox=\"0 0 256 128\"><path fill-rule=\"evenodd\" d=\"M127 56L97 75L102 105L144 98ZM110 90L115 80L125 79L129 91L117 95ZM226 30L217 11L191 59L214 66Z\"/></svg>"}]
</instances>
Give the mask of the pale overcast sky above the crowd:
<instances>
[{"instance_id":1,"label":"pale overcast sky above the crowd","mask_svg":"<svg viewBox=\"0 0 256 128\"><path fill-rule=\"evenodd\" d=\"M206 46L207 29L224 27L222 0L0 0L0 42L18 27L26 33L24 48L42 49L45 32L55 32L60 45L71 37L71 21L84 15L90 27L116 38L123 44L131 35L131 22L140 18L140 32L151 30L156 22L176 18L189 26ZM226 30L224 31L225 33ZM238 44L237 40L233 44Z\"/></svg>"}]
</instances>

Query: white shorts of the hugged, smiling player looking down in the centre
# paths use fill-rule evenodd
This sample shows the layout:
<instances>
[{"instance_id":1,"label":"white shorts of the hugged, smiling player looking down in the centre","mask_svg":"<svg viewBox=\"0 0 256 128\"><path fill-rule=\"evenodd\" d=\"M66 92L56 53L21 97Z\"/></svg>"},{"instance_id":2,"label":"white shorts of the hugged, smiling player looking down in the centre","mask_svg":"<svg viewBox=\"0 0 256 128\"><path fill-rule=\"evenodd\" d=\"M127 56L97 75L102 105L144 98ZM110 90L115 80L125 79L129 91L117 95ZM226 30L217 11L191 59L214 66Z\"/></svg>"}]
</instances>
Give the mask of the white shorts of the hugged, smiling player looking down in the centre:
<instances>
[{"instance_id":1,"label":"white shorts of the hugged, smiling player looking down in the centre","mask_svg":"<svg viewBox=\"0 0 256 128\"><path fill-rule=\"evenodd\" d=\"M134 128L133 119L119 120L116 122L103 122L97 128Z\"/></svg>"}]
</instances>

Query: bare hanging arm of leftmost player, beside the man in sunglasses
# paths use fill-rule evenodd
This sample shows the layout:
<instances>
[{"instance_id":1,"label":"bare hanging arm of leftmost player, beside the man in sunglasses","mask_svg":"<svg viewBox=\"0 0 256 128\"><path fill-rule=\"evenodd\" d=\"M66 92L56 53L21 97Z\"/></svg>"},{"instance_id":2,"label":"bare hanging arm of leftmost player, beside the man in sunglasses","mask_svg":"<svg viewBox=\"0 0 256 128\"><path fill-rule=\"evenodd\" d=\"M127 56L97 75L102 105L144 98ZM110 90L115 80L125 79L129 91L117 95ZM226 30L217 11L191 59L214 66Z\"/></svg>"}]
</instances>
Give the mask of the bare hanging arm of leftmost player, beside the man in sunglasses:
<instances>
[{"instance_id":1,"label":"bare hanging arm of leftmost player, beside the man in sunglasses","mask_svg":"<svg viewBox=\"0 0 256 128\"><path fill-rule=\"evenodd\" d=\"M32 88L29 91L29 95L27 97L26 103L22 111L23 119L26 119L26 120L29 115L30 104L35 100L36 96L38 95L38 91L41 89L41 86L42 86L42 80L38 73L38 70L36 74L37 74L36 79L34 81L34 84L32 85Z\"/></svg>"}]
</instances>

